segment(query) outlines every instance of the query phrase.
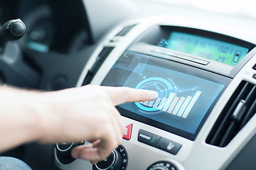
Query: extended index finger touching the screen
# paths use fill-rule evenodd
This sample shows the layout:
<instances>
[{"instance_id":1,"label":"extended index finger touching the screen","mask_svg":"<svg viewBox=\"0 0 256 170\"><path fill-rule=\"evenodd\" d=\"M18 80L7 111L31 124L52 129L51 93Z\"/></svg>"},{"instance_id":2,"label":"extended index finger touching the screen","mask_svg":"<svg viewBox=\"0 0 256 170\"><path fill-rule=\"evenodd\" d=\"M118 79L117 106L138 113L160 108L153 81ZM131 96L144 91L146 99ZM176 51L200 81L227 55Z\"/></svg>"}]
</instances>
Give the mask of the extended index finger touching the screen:
<instances>
[{"instance_id":1,"label":"extended index finger touching the screen","mask_svg":"<svg viewBox=\"0 0 256 170\"><path fill-rule=\"evenodd\" d=\"M102 86L103 90L110 97L114 106L127 102L153 101L158 98L156 91L144 89L132 89L129 87Z\"/></svg>"}]
</instances>

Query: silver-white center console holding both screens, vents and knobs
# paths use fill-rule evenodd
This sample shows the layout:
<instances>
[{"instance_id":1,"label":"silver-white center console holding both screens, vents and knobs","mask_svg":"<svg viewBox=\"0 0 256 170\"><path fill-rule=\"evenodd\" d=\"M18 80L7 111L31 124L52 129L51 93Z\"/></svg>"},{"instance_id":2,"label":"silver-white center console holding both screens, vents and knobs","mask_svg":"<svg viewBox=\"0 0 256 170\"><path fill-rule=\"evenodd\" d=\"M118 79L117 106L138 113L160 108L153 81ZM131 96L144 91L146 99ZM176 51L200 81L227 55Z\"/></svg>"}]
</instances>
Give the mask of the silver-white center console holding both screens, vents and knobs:
<instances>
[{"instance_id":1,"label":"silver-white center console holding both screens, vents and knobs","mask_svg":"<svg viewBox=\"0 0 256 170\"><path fill-rule=\"evenodd\" d=\"M159 98L117 106L124 140L98 164L66 154L86 142L58 144L60 169L225 169L245 147L256 131L255 42L235 29L183 23L142 18L102 40L78 86L128 86Z\"/></svg>"}]
</instances>

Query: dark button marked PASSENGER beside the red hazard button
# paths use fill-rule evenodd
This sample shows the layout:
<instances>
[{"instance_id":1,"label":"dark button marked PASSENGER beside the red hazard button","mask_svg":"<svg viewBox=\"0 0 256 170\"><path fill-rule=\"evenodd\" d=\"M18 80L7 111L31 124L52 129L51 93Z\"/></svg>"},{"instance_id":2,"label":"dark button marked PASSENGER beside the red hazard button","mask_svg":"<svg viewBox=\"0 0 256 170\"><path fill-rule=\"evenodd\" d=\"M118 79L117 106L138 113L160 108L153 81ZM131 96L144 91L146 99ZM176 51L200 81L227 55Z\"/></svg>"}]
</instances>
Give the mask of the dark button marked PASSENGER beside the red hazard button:
<instances>
[{"instance_id":1,"label":"dark button marked PASSENGER beside the red hazard button","mask_svg":"<svg viewBox=\"0 0 256 170\"><path fill-rule=\"evenodd\" d=\"M138 134L138 141L139 142L143 142L147 145L151 145L151 146L155 146L156 142L159 140L159 136L158 135L154 135L151 132L146 132L145 130L139 130L139 134Z\"/></svg>"}]
</instances>

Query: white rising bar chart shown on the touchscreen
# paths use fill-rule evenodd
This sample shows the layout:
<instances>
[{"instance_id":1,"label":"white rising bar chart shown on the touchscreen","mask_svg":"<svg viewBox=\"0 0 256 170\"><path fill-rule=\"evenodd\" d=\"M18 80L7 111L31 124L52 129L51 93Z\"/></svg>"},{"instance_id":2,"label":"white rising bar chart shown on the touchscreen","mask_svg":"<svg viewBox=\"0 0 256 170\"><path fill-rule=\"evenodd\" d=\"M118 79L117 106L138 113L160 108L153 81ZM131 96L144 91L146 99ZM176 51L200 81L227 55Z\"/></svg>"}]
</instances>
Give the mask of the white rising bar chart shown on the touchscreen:
<instances>
[{"instance_id":1,"label":"white rising bar chart shown on the touchscreen","mask_svg":"<svg viewBox=\"0 0 256 170\"><path fill-rule=\"evenodd\" d=\"M201 91L196 91L194 96L178 97L176 93L170 93L168 98L157 98L154 101L144 101L139 103L149 108L155 108L159 111L177 115L181 118L187 118L201 94Z\"/></svg>"}]
</instances>

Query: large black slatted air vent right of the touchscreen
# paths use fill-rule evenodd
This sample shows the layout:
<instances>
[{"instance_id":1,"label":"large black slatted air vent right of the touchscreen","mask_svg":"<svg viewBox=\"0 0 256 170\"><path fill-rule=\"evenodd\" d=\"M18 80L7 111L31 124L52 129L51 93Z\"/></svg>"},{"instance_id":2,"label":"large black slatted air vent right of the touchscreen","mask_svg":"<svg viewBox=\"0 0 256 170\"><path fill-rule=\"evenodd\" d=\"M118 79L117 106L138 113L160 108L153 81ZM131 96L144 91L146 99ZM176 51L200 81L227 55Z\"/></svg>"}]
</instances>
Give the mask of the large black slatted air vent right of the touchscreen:
<instances>
[{"instance_id":1,"label":"large black slatted air vent right of the touchscreen","mask_svg":"<svg viewBox=\"0 0 256 170\"><path fill-rule=\"evenodd\" d=\"M256 112L256 86L242 81L220 113L206 143L225 147Z\"/></svg>"}]
</instances>

